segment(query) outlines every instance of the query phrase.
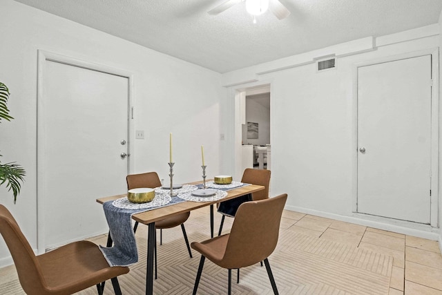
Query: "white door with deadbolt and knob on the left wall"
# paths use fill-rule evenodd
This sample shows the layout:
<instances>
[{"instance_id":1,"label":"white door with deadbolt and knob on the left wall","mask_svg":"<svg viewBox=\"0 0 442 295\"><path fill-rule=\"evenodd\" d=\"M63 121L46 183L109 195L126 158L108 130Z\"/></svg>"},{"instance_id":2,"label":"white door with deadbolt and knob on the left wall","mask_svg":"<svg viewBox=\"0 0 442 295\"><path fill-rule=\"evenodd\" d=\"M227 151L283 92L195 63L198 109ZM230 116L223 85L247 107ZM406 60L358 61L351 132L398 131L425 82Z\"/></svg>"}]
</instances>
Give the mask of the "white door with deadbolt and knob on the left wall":
<instances>
[{"instance_id":1,"label":"white door with deadbolt and knob on the left wall","mask_svg":"<svg viewBox=\"0 0 442 295\"><path fill-rule=\"evenodd\" d=\"M106 232L95 200L126 191L128 159L121 153L128 153L128 77L44 63L39 248L50 249Z\"/></svg>"}]
</instances>

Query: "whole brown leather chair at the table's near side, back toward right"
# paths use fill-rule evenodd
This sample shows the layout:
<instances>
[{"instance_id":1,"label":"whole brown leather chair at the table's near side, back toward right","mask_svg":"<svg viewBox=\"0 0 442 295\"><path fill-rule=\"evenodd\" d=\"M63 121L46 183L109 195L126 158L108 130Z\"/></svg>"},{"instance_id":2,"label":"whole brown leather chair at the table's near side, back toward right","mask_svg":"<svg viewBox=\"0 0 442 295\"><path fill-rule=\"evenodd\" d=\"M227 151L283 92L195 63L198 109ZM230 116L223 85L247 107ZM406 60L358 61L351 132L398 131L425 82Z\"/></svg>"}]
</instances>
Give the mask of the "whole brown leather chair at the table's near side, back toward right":
<instances>
[{"instance_id":1,"label":"whole brown leather chair at the table's near side, back toward right","mask_svg":"<svg viewBox=\"0 0 442 295\"><path fill-rule=\"evenodd\" d=\"M193 294L197 292L205 258L209 258L215 265L229 269L229 294L231 269L240 269L264 260L273 293L278 294L268 257L278 243L280 220L286 200L287 193L284 193L275 198L244 202L236 212L230 234L191 243L191 247L201 254Z\"/></svg>"}]
</instances>

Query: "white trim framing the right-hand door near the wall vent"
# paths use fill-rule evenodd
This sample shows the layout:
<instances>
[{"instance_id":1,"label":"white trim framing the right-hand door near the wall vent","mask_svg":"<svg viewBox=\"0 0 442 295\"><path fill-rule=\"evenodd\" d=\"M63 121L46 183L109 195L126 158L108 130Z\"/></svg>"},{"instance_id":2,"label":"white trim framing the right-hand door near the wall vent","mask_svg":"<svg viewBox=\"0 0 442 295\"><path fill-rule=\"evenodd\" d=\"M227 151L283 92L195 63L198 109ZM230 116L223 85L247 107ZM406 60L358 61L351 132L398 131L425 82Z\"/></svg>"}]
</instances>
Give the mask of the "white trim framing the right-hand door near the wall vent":
<instances>
[{"instance_id":1,"label":"white trim framing the right-hand door near the wall vent","mask_svg":"<svg viewBox=\"0 0 442 295\"><path fill-rule=\"evenodd\" d=\"M371 61L364 61L354 65L353 68L353 99L352 99L352 211L357 213L358 201L358 68L374 64L381 64L389 61L407 59L412 57L420 57L423 55L432 56L432 122L431 122L431 208L430 208L430 225L439 227L439 48L429 48L401 55L383 57Z\"/></svg>"}]
</instances>

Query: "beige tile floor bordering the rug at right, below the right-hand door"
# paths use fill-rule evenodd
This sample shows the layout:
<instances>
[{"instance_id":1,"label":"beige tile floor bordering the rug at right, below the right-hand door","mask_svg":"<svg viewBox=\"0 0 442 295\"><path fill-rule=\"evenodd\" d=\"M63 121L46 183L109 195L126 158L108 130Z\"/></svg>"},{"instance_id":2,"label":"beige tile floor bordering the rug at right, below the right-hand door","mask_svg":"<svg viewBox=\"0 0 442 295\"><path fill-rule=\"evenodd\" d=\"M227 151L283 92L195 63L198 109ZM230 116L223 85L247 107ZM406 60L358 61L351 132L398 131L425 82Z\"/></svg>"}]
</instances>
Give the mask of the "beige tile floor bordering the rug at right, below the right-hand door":
<instances>
[{"instance_id":1,"label":"beige tile floor bordering the rug at right, below the right-hand door","mask_svg":"<svg viewBox=\"0 0 442 295\"><path fill-rule=\"evenodd\" d=\"M390 295L442 295L439 243L285 210L281 227L393 256Z\"/></svg>"}]
</instances>

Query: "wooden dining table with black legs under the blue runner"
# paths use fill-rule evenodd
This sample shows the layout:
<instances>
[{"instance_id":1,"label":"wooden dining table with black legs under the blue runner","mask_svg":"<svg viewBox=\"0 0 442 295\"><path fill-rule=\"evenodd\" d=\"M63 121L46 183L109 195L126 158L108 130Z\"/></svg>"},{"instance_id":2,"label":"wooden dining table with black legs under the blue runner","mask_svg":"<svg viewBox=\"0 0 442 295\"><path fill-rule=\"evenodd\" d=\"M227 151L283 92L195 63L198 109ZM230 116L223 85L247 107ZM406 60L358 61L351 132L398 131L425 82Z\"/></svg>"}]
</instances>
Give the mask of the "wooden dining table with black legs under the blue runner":
<instances>
[{"instance_id":1,"label":"wooden dining table with black legs under the blue runner","mask_svg":"<svg viewBox=\"0 0 442 295\"><path fill-rule=\"evenodd\" d=\"M200 184L200 182L192 182L191 184ZM147 263L146 263L146 294L153 294L153 255L156 243L156 235L155 235L155 222L158 220L162 220L164 218L168 218L171 216L175 216L180 213L189 212L195 209L200 209L202 207L210 207L210 230L211 237L213 238L213 211L214 205L219 202L224 202L226 200L231 200L234 198L238 198L240 196L245 196L250 193L254 193L256 191L261 191L265 189L265 187L256 184L247 184L241 187L236 187L234 189L227 190L227 196L215 201L207 201L207 202L194 202L194 201L185 201L178 202L176 204L171 204L165 207L159 207L157 209L152 209L150 211L144 211L141 213L135 213L132 216L132 219L140 222L144 225L148 226L148 236L147 236ZM126 193L117 196L108 196L104 198L97 198L97 202L99 204L104 204L104 202L108 202L111 200L117 200L119 198L126 197Z\"/></svg>"}]
</instances>

